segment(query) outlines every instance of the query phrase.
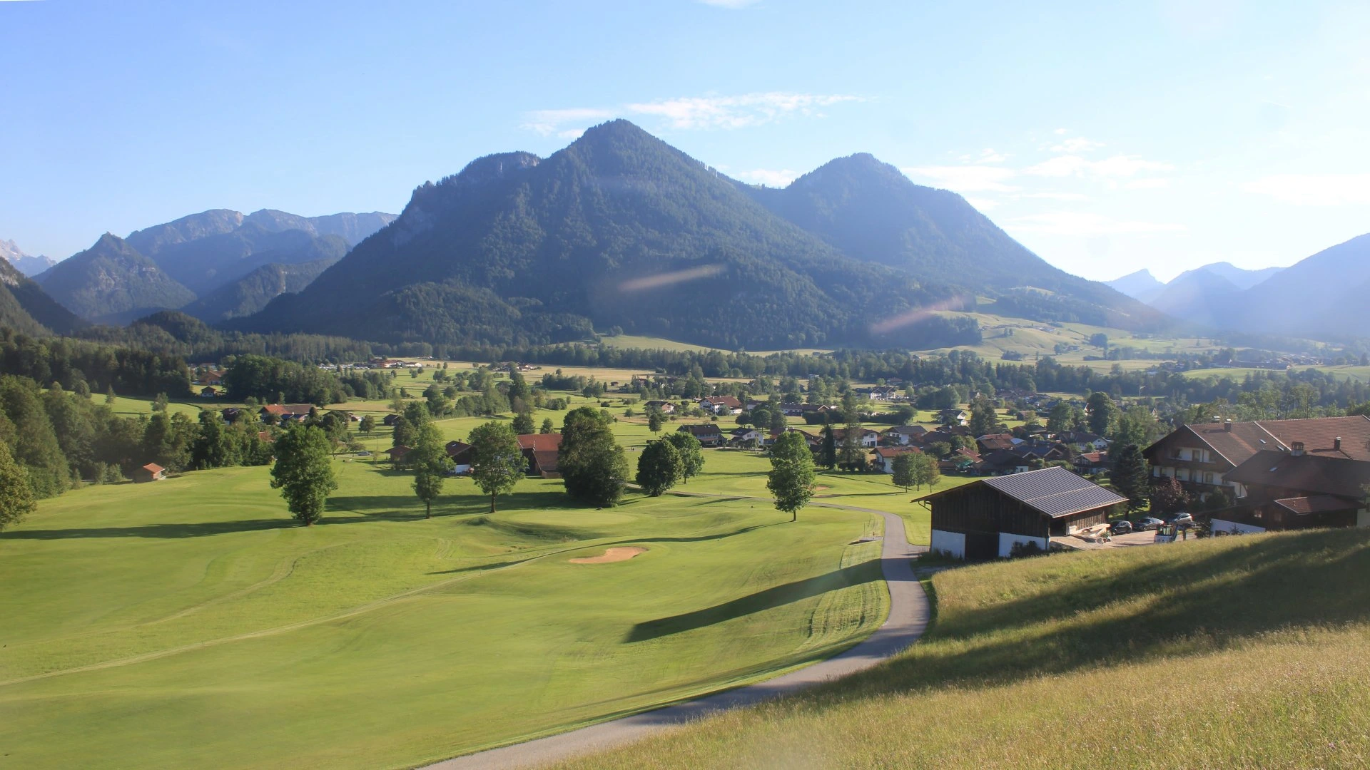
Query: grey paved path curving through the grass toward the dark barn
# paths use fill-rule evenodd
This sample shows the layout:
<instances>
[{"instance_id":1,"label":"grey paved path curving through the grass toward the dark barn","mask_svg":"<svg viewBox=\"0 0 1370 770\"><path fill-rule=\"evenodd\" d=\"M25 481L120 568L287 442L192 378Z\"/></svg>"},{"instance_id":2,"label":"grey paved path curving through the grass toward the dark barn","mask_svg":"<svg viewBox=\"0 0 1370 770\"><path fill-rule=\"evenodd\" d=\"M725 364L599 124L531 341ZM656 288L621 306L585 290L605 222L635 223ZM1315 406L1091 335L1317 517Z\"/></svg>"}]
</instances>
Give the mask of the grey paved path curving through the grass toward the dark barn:
<instances>
[{"instance_id":1,"label":"grey paved path curving through the grass toward the dark barn","mask_svg":"<svg viewBox=\"0 0 1370 770\"><path fill-rule=\"evenodd\" d=\"M693 495L690 496L706 496ZM714 495L707 495L712 497ZM725 495L726 496L726 495ZM769 501L769 499L767 499ZM819 503L812 503L819 504ZM911 558L926 547L910 545L904 537L904 519L896 514L823 504L823 507L867 511L885 518L885 538L881 548L881 571L889 585L889 618L864 641L847 652L821 660L804 669L766 680L754 685L723 691L696 700L677 703L656 711L581 728L558 736L469 754L432 765L434 770L493 770L504 767L533 767L582 754L614 748L660 733L671 726L697 719L715 711L752 706L782 695L790 695L829 680L845 677L880 663L891 655L918 641L927 628L929 604L922 584L914 577Z\"/></svg>"}]
</instances>

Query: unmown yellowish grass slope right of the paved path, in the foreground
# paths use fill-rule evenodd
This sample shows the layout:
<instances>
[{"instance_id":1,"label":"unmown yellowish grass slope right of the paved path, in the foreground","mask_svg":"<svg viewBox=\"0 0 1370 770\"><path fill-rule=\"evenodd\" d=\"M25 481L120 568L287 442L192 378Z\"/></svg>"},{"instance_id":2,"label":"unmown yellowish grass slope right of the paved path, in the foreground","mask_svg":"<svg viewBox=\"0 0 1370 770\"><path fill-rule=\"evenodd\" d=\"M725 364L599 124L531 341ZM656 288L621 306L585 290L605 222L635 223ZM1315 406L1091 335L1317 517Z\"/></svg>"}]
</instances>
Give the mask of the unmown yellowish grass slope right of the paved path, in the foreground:
<instances>
[{"instance_id":1,"label":"unmown yellowish grass slope right of the paved path, in the foreground","mask_svg":"<svg viewBox=\"0 0 1370 770\"><path fill-rule=\"evenodd\" d=\"M940 573L869 673L566 767L1365 767L1370 532Z\"/></svg>"}]
</instances>

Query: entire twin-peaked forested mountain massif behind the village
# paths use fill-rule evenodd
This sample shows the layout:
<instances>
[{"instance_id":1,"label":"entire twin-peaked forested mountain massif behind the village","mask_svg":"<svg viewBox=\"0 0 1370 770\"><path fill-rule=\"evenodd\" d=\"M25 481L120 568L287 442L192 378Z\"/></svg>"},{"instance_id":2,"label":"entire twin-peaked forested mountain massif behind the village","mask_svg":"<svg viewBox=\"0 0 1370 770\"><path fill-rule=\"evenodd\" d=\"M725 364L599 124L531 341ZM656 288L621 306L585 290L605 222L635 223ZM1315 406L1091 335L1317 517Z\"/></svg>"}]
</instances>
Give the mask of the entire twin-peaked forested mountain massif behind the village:
<instances>
[{"instance_id":1,"label":"entire twin-peaked forested mountain massif behind the village","mask_svg":"<svg viewBox=\"0 0 1370 770\"><path fill-rule=\"evenodd\" d=\"M1033 318L1166 323L869 155L767 190L614 121L547 159L492 155L425 184L303 292L229 325L447 344L618 326L749 349L937 347L978 340L967 318L937 314L977 297Z\"/></svg>"}]
</instances>

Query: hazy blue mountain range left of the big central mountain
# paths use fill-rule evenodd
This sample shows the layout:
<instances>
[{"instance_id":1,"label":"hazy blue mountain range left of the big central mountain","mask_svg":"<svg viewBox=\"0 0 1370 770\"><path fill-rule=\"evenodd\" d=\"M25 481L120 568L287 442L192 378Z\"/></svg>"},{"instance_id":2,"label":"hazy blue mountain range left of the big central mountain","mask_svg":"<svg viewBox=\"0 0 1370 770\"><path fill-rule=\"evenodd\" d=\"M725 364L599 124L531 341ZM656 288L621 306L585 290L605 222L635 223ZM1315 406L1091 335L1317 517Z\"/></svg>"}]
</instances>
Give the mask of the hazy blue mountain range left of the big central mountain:
<instances>
[{"instance_id":1,"label":"hazy blue mountain range left of the big central mountain","mask_svg":"<svg viewBox=\"0 0 1370 770\"><path fill-rule=\"evenodd\" d=\"M262 210L244 215L218 208L127 238L105 233L36 281L92 322L126 323L182 307L218 322L260 310L281 292L299 290L301 277L318 275L392 221L393 214L381 212L299 216ZM297 267L304 264L310 267ZM282 280L264 280L273 273Z\"/></svg>"}]
</instances>

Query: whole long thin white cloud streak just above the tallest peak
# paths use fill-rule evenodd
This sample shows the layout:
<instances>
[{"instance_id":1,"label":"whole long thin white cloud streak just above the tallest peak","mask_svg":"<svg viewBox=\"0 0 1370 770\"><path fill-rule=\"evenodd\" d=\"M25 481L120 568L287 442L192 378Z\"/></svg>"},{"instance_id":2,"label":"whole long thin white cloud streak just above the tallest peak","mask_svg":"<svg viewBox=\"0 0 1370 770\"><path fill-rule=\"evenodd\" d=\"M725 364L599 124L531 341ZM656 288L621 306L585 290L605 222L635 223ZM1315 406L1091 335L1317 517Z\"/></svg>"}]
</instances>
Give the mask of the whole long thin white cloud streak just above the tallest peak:
<instances>
[{"instance_id":1,"label":"whole long thin white cloud streak just above the tallest peak","mask_svg":"<svg viewBox=\"0 0 1370 770\"><path fill-rule=\"evenodd\" d=\"M541 136L574 138L600 121L647 115L663 118L671 129L743 129L792 116L825 118L823 108L845 101L864 101L864 99L849 95L786 92L695 96L638 101L615 110L600 107L534 110L523 115L519 127Z\"/></svg>"}]
</instances>

